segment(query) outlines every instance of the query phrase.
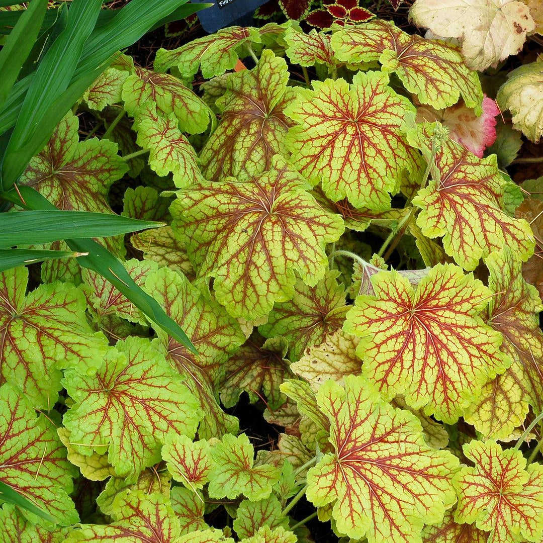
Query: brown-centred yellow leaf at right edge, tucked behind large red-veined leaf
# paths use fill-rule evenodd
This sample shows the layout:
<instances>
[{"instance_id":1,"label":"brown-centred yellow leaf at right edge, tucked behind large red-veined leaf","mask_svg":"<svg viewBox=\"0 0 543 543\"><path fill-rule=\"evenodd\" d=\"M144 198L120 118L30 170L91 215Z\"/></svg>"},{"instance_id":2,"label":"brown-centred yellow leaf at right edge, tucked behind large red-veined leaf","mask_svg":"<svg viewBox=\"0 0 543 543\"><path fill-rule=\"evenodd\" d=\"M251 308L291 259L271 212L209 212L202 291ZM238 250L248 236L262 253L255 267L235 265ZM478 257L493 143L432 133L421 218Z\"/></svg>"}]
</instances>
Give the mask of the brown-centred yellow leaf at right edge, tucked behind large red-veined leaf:
<instances>
[{"instance_id":1,"label":"brown-centred yellow leaf at right edge, tucked behind large red-veined leaf","mask_svg":"<svg viewBox=\"0 0 543 543\"><path fill-rule=\"evenodd\" d=\"M464 415L485 436L503 439L521 426L528 405L534 413L543 409L543 332L539 313L543 305L538 291L523 279L521 261L509 248L485 258L490 270L488 323L501 332L501 349L512 359L502 375L483 387Z\"/></svg>"}]
</instances>

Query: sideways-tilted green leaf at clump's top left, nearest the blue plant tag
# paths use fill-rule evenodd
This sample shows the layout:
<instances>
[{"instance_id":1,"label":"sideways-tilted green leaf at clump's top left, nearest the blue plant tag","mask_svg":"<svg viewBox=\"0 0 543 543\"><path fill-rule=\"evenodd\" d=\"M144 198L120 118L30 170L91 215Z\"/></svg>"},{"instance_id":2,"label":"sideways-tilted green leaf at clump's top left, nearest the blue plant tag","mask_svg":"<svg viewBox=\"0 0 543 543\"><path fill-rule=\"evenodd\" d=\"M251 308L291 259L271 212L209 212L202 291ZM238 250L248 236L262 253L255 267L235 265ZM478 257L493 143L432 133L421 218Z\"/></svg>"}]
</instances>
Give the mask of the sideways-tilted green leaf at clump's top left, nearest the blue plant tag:
<instances>
[{"instance_id":1,"label":"sideways-tilted green leaf at clump's top left, nearest the blue plant tag","mask_svg":"<svg viewBox=\"0 0 543 543\"><path fill-rule=\"evenodd\" d=\"M200 69L205 79L211 79L236 66L238 51L243 45L259 41L256 28L223 28L177 49L159 49L154 67L157 72L165 72L175 66L187 79L192 79Z\"/></svg>"}]
</instances>

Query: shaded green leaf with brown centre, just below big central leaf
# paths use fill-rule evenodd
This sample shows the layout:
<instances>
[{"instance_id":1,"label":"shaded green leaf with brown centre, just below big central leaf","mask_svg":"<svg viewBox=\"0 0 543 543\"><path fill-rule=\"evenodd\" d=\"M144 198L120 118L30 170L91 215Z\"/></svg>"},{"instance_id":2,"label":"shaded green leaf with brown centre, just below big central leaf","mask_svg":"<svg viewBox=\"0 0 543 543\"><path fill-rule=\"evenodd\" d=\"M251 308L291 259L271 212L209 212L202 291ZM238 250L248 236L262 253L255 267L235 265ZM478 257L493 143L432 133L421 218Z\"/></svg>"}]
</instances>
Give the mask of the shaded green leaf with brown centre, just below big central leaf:
<instances>
[{"instance_id":1,"label":"shaded green leaf with brown centre, just below big central leaf","mask_svg":"<svg viewBox=\"0 0 543 543\"><path fill-rule=\"evenodd\" d=\"M343 285L337 282L338 275L336 270L327 271L315 286L296 281L292 299L276 304L268 323L259 326L258 331L268 338L284 336L292 361L298 360L306 348L323 343L327 334L343 325L349 310Z\"/></svg>"}]
</instances>

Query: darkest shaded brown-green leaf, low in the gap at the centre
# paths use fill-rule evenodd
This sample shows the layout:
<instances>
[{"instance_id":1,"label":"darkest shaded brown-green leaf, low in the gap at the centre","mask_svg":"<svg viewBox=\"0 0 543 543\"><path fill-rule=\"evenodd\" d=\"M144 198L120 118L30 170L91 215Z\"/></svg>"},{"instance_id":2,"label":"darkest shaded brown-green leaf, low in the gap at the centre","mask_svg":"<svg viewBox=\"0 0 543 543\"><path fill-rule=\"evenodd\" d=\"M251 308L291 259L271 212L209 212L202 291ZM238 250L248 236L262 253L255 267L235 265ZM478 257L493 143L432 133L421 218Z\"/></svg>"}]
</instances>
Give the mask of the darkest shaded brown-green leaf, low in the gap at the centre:
<instances>
[{"instance_id":1,"label":"darkest shaded brown-green leaf, low in the gap at the centre","mask_svg":"<svg viewBox=\"0 0 543 543\"><path fill-rule=\"evenodd\" d=\"M263 399L270 409L285 403L280 384L292 376L286 360L288 342L279 336L264 340L260 334L252 336L228 359L220 383L220 399L225 407L233 407L242 392L254 403Z\"/></svg>"}]
</instances>

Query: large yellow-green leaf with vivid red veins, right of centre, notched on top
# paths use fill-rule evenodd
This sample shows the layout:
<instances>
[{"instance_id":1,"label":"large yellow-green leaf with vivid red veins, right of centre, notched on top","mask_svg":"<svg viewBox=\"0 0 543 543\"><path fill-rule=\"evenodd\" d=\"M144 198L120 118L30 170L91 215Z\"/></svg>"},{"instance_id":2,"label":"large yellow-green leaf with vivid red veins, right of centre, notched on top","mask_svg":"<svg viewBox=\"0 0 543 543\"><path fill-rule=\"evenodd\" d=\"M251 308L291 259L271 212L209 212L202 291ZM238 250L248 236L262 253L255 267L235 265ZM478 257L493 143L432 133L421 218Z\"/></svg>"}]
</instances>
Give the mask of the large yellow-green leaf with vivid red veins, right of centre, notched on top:
<instances>
[{"instance_id":1,"label":"large yellow-green leaf with vivid red veins, right of centre, notched on top","mask_svg":"<svg viewBox=\"0 0 543 543\"><path fill-rule=\"evenodd\" d=\"M452 264L438 264L418 288L397 271L372 276L375 296L358 296L346 332L361 337L363 375L390 399L455 422L510 360L481 312L490 291Z\"/></svg>"}]
</instances>

